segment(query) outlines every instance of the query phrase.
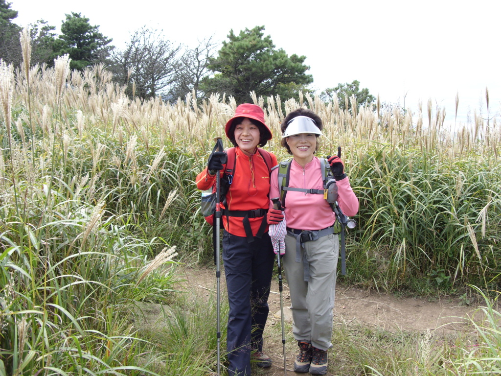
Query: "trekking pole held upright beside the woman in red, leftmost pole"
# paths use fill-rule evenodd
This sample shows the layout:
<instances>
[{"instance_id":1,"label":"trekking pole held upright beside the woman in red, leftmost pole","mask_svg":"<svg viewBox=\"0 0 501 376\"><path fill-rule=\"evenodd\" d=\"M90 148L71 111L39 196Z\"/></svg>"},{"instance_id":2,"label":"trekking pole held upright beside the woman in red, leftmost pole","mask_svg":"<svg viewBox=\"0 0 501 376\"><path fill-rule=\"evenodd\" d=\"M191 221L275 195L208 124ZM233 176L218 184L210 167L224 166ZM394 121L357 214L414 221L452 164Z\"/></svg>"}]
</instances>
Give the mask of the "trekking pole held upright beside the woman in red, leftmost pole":
<instances>
[{"instance_id":1,"label":"trekking pole held upright beside the woman in red, leftmost pole","mask_svg":"<svg viewBox=\"0 0 501 376\"><path fill-rule=\"evenodd\" d=\"M222 152L223 145L222 145L222 138L221 137L215 137L214 141L216 142L215 148L217 148L218 152ZM220 346L221 346L221 323L220 323L220 318L221 318L221 307L219 304L220 300L220 285L219 285L219 278L221 277L221 265L219 262L220 259L220 250L219 250L219 230L220 230L220 221L221 221L221 176L219 171L216 173L216 210L214 213L214 228L213 228L213 240L215 244L215 264L216 264L216 338L217 338L217 375L219 376L221 374L221 351L220 351Z\"/></svg>"}]
</instances>

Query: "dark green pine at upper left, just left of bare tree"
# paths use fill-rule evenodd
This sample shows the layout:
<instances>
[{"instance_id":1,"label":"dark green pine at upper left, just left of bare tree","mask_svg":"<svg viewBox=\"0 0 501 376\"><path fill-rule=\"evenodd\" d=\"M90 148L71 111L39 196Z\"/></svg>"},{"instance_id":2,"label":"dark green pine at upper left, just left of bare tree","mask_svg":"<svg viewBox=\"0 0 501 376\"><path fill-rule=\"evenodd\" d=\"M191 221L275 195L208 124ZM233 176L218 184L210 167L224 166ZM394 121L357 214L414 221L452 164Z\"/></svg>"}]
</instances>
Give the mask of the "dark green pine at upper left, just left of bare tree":
<instances>
[{"instance_id":1,"label":"dark green pine at upper left, just left of bare tree","mask_svg":"<svg viewBox=\"0 0 501 376\"><path fill-rule=\"evenodd\" d=\"M87 17L72 12L66 15L66 21L61 25L61 35L54 43L56 56L69 54L71 69L83 70L85 67L105 62L112 46L108 39L99 32L99 26L89 24Z\"/></svg>"}]
</instances>

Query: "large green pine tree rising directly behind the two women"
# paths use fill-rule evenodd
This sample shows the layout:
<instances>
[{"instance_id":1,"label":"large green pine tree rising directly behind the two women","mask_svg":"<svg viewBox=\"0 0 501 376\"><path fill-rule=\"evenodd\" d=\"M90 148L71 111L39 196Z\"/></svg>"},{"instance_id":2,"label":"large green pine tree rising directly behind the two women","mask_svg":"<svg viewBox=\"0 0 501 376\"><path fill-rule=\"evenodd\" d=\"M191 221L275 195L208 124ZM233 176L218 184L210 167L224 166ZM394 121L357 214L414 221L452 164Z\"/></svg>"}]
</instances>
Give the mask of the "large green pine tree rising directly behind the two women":
<instances>
[{"instance_id":1,"label":"large green pine tree rising directly behind the two women","mask_svg":"<svg viewBox=\"0 0 501 376\"><path fill-rule=\"evenodd\" d=\"M208 68L213 77L202 80L206 93L225 92L237 102L250 101L250 92L258 96L280 95L297 97L299 90L313 82L305 56L291 55L275 49L271 37L264 37L264 26L245 29L235 35L230 30L229 41L223 41L216 58Z\"/></svg>"}]
</instances>

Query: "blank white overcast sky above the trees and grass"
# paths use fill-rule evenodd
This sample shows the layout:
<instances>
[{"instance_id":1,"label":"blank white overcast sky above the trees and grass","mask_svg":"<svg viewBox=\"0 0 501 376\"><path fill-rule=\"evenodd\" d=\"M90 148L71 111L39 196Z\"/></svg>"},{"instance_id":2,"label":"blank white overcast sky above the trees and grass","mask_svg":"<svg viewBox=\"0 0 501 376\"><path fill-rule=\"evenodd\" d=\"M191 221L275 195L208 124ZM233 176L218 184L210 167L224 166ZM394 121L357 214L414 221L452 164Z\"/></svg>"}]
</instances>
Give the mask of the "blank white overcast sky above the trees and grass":
<instances>
[{"instance_id":1,"label":"blank white overcast sky above the trees and grass","mask_svg":"<svg viewBox=\"0 0 501 376\"><path fill-rule=\"evenodd\" d=\"M190 47L264 25L276 48L306 56L319 92L358 80L383 102L403 105L405 97L413 112L421 100L426 113L431 98L450 123L457 92L458 121L474 109L486 118L486 87L490 115L501 107L499 0L7 1L18 25L43 19L57 32L65 14L81 13L117 48L144 25Z\"/></svg>"}]
</instances>

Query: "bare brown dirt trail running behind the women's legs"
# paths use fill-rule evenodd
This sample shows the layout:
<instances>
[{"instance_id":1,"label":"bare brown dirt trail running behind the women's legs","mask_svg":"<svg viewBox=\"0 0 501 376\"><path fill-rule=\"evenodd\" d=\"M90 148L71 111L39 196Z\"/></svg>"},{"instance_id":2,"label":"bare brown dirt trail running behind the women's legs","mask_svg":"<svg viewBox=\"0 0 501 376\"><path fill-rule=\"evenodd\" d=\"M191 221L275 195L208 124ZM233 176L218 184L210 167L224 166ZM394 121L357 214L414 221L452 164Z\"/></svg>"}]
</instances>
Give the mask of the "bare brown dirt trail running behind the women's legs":
<instances>
[{"instance_id":1,"label":"bare brown dirt trail running behind the women's legs","mask_svg":"<svg viewBox=\"0 0 501 376\"><path fill-rule=\"evenodd\" d=\"M186 288L194 288L197 294L208 296L215 292L215 273L213 270L182 271L183 285ZM220 278L221 294L225 293L224 273ZM280 325L280 297L276 276L272 281L272 293L269 298L270 315L268 325ZM285 317L292 322L292 314L289 309L290 296L287 284L284 284L284 307ZM440 330L458 331L465 330L461 323L473 314L476 307L460 305L458 300L437 299L429 301L426 298L398 298L392 294L379 294L374 291L363 291L338 284L336 286L336 299L334 307L335 322L358 322L365 325L379 326L385 329L398 330ZM294 362L294 353L297 345L287 343L287 369L291 374ZM265 328L266 352L274 359L272 367L258 370L260 375L281 375L283 368L283 348L281 338L270 337ZM255 372L253 371L253 374Z\"/></svg>"}]
</instances>

